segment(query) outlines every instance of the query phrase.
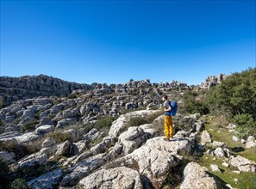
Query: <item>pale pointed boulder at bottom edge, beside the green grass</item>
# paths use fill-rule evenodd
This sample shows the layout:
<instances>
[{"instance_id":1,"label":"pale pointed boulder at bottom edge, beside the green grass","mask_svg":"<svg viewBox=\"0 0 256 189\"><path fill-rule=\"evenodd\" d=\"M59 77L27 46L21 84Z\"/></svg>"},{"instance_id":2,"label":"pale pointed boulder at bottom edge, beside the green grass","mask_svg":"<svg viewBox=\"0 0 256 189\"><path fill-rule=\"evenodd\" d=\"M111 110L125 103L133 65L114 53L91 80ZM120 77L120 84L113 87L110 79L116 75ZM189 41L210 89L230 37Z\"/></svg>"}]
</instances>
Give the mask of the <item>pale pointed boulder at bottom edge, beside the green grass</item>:
<instances>
[{"instance_id":1,"label":"pale pointed boulder at bottom edge, beside the green grass","mask_svg":"<svg viewBox=\"0 0 256 189\"><path fill-rule=\"evenodd\" d=\"M216 189L214 178L209 177L205 170L196 162L190 162L184 168L184 181L180 189Z\"/></svg>"}]
</instances>

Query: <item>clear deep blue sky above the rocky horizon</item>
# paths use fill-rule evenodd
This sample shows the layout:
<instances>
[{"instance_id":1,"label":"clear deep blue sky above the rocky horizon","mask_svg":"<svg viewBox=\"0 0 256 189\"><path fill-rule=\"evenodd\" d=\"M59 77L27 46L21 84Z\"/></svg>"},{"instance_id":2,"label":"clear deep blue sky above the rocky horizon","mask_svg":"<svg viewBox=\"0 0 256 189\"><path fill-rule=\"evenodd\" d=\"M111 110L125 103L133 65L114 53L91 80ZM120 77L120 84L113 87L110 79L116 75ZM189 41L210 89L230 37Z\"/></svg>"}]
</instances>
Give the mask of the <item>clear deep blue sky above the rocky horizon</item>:
<instances>
[{"instance_id":1,"label":"clear deep blue sky above the rocky horizon","mask_svg":"<svg viewBox=\"0 0 256 189\"><path fill-rule=\"evenodd\" d=\"M1 0L1 76L199 84L256 66L255 25L255 0Z\"/></svg>"}]
</instances>

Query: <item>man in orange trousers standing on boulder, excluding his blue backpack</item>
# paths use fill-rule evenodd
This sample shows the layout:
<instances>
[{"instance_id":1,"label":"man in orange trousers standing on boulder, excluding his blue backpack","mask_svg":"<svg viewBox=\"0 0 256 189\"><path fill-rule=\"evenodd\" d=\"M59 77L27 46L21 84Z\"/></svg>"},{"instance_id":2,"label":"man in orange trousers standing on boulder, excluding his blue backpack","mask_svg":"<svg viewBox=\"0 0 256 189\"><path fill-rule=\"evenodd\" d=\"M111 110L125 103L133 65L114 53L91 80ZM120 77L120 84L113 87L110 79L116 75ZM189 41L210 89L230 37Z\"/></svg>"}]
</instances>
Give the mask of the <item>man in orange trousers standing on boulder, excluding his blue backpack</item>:
<instances>
[{"instance_id":1,"label":"man in orange trousers standing on boulder, excluding his blue backpack","mask_svg":"<svg viewBox=\"0 0 256 189\"><path fill-rule=\"evenodd\" d=\"M171 116L171 103L168 101L168 96L166 94L162 95L162 100L164 101L165 107L165 140L169 141L173 137L173 127L172 127L172 116Z\"/></svg>"}]
</instances>

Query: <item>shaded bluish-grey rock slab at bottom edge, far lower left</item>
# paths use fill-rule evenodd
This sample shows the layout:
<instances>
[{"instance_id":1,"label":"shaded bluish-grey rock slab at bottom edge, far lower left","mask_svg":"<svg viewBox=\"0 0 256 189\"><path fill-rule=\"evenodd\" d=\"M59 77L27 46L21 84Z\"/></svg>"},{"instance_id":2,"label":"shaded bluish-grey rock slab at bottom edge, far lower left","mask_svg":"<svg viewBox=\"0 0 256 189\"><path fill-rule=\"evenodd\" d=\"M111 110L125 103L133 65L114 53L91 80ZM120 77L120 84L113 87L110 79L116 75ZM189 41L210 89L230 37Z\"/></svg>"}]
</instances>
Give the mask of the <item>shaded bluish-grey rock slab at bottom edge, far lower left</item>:
<instances>
[{"instance_id":1,"label":"shaded bluish-grey rock slab at bottom edge, far lower left","mask_svg":"<svg viewBox=\"0 0 256 189\"><path fill-rule=\"evenodd\" d=\"M42 174L40 177L28 181L28 186L32 186L33 189L44 188L52 189L53 184L59 184L63 177L63 171L61 168L54 170L47 174Z\"/></svg>"}]
</instances>

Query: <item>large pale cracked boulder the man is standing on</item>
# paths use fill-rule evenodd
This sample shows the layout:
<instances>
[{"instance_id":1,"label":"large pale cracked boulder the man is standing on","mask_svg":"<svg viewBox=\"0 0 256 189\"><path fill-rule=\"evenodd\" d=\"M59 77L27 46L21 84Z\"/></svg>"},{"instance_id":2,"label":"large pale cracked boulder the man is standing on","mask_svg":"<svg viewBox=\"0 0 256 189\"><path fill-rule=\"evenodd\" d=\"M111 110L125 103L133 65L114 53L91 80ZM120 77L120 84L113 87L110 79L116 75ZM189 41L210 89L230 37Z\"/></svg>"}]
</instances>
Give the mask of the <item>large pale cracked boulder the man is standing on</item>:
<instances>
[{"instance_id":1,"label":"large pale cracked boulder the man is standing on","mask_svg":"<svg viewBox=\"0 0 256 189\"><path fill-rule=\"evenodd\" d=\"M169 170L179 162L178 151L189 152L194 143L190 138L174 138L172 141L165 141L164 138L153 137L123 157L126 166L136 167L143 175L145 187L162 186Z\"/></svg>"}]
</instances>

